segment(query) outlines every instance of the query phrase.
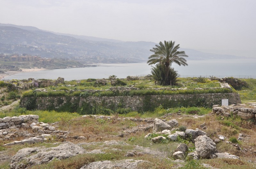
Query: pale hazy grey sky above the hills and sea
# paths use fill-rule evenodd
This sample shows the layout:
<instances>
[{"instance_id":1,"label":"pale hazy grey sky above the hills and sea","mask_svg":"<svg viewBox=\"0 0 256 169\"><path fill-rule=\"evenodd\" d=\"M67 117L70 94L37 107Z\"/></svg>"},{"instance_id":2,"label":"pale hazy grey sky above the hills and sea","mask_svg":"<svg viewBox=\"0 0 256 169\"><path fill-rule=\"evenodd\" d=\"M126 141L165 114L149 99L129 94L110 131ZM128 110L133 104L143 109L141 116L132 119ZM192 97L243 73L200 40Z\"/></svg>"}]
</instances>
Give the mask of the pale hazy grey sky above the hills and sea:
<instances>
[{"instance_id":1,"label":"pale hazy grey sky above the hills and sea","mask_svg":"<svg viewBox=\"0 0 256 169\"><path fill-rule=\"evenodd\" d=\"M255 0L0 0L0 23L256 58Z\"/></svg>"}]
</instances>

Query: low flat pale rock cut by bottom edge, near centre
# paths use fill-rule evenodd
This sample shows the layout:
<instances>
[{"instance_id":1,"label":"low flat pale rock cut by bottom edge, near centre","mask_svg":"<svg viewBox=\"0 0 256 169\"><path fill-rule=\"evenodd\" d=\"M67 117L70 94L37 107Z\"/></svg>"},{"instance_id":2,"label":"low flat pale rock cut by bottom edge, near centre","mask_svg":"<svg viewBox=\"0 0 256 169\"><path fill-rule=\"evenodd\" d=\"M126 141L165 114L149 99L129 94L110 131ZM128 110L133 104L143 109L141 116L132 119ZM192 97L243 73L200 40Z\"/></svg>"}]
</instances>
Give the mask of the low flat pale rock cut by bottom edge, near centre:
<instances>
[{"instance_id":1,"label":"low flat pale rock cut by bottom edge, near centre","mask_svg":"<svg viewBox=\"0 0 256 169\"><path fill-rule=\"evenodd\" d=\"M91 169L91 168L97 168L97 169L105 169L105 168L138 168L138 164L140 163L149 163L148 161L144 160L133 160L133 159L127 159L127 160L119 160L119 161L97 161L92 162L90 164L84 165L81 169Z\"/></svg>"}]
</instances>

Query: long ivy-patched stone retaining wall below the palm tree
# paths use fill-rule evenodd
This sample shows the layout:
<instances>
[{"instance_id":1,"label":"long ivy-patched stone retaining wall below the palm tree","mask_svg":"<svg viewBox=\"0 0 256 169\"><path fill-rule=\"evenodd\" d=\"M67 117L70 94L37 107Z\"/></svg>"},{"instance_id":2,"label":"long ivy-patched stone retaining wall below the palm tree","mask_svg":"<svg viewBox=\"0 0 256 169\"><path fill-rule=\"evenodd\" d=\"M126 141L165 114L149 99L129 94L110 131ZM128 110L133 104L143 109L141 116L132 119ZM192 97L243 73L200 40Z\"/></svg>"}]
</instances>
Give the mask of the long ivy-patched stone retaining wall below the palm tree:
<instances>
[{"instance_id":1,"label":"long ivy-patched stone retaining wall below the palm tree","mask_svg":"<svg viewBox=\"0 0 256 169\"><path fill-rule=\"evenodd\" d=\"M26 107L34 97L24 97L20 100L20 106ZM187 94L187 95L147 95L147 96L69 96L69 97L36 97L35 109L58 109L65 104L72 103L80 107L84 102L90 104L101 104L105 106L114 104L115 106L122 104L125 108L132 110L141 110L145 106L158 106L160 104L168 104L168 107L177 106L207 106L221 104L221 99L228 99L229 104L241 103L240 96L236 93L208 93L208 94ZM148 105L146 105L148 104Z\"/></svg>"}]
</instances>

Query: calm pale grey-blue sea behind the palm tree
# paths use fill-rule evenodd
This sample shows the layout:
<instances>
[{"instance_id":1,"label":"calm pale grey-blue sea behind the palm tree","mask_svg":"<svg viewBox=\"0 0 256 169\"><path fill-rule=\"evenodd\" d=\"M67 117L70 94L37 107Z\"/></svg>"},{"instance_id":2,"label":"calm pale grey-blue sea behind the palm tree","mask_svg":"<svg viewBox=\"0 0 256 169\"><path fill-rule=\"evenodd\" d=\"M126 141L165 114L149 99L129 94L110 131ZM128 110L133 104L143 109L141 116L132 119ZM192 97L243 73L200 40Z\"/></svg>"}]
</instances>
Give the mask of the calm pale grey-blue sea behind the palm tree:
<instances>
[{"instance_id":1,"label":"calm pale grey-blue sea behind the palm tree","mask_svg":"<svg viewBox=\"0 0 256 169\"><path fill-rule=\"evenodd\" d=\"M188 60L188 66L173 64L180 77L238 77L256 78L256 59L243 60ZM5 79L57 79L63 77L65 80L81 80L89 78L108 78L116 75L117 78L127 76L147 75L151 72L151 66L147 63L125 63L125 64L99 64L97 67L82 67L68 69L51 69L38 72L24 72L5 77Z\"/></svg>"}]
</instances>

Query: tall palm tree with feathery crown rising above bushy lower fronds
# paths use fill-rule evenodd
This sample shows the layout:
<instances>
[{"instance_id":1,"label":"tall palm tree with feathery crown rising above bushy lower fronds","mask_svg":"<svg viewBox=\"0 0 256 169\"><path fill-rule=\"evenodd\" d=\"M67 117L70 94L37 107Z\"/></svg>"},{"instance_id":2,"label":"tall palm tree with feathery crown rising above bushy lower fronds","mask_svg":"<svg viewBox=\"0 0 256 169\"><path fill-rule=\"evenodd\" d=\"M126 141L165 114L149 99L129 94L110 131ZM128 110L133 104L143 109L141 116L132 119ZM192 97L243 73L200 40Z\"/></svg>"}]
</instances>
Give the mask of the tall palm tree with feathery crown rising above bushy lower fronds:
<instances>
[{"instance_id":1,"label":"tall palm tree with feathery crown rising above bushy lower fronds","mask_svg":"<svg viewBox=\"0 0 256 169\"><path fill-rule=\"evenodd\" d=\"M188 66L187 60L184 58L188 57L188 55L185 54L185 51L178 51L179 48L180 44L175 46L175 41L164 41L164 43L159 42L159 45L156 45L156 47L150 49L150 51L154 52L154 54L148 57L147 63L149 65L156 63L164 65L166 81L168 80L169 70L173 62L177 63L179 66ZM170 84L172 84L171 81Z\"/></svg>"}]
</instances>

